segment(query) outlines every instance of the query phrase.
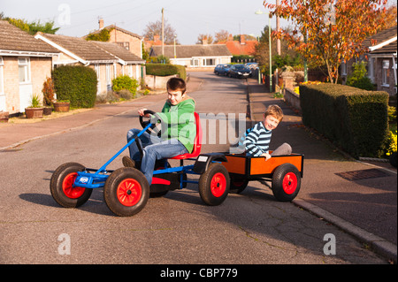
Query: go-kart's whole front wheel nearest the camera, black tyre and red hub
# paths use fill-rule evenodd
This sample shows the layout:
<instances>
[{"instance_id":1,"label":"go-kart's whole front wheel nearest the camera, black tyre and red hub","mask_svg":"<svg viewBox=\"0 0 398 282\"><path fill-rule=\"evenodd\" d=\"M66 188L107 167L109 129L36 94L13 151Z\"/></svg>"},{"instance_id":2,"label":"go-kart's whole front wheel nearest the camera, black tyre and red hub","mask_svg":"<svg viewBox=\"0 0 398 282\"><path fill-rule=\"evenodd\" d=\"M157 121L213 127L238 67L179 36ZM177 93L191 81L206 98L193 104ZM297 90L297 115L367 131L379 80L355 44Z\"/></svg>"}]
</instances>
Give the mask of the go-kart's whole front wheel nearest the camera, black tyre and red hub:
<instances>
[{"instance_id":1,"label":"go-kart's whole front wheel nearest the camera, black tyre and red hub","mask_svg":"<svg viewBox=\"0 0 398 282\"><path fill-rule=\"evenodd\" d=\"M131 217L148 202L149 184L141 171L122 167L106 179L103 198L108 208L119 217Z\"/></svg>"}]
</instances>

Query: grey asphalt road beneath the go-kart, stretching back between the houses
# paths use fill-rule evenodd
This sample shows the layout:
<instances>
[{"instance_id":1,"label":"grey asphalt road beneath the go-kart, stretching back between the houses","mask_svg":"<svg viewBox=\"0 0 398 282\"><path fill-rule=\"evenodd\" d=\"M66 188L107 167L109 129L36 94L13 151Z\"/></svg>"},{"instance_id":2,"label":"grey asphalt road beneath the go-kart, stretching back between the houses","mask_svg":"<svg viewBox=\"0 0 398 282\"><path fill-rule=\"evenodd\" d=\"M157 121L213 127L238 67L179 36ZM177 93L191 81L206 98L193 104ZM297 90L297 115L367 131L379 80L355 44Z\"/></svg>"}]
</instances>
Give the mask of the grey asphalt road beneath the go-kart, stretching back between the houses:
<instances>
[{"instance_id":1,"label":"grey asphalt road beneath the go-kart, stretching back between the houses","mask_svg":"<svg viewBox=\"0 0 398 282\"><path fill-rule=\"evenodd\" d=\"M207 127L218 123L216 143L208 133L203 152L225 151L220 120L230 129L228 113L246 114L244 80L192 75L203 80L200 90L189 93L196 111ZM334 225L293 203L276 202L259 182L216 207L203 204L195 184L149 199L134 217L115 217L103 202L103 189L94 190L79 209L59 207L50 195L52 172L71 161L99 168L124 146L130 128L140 128L139 108L160 111L164 104L146 101L125 103L123 114L0 152L0 263L387 263ZM108 168L121 165L120 156ZM329 248L333 240L335 254ZM151 274L161 275L158 269Z\"/></svg>"}]
</instances>

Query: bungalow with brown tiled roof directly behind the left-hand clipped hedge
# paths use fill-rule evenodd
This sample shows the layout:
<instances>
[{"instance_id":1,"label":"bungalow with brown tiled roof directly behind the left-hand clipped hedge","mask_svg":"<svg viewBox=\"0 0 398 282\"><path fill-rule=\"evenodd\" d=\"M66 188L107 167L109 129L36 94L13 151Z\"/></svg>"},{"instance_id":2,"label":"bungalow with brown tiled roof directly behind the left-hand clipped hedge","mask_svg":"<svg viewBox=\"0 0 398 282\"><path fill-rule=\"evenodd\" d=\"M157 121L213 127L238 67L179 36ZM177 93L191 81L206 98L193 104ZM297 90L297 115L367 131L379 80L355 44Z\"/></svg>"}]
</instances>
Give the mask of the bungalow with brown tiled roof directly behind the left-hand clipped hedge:
<instances>
[{"instance_id":1,"label":"bungalow with brown tiled roof directly behind the left-hand clipped hedge","mask_svg":"<svg viewBox=\"0 0 398 282\"><path fill-rule=\"evenodd\" d=\"M58 34L34 35L61 54L53 58L53 65L86 65L96 71L97 94L111 89L111 80L127 74L137 81L142 78L142 58L111 42L86 41L80 37Z\"/></svg>"}]
</instances>

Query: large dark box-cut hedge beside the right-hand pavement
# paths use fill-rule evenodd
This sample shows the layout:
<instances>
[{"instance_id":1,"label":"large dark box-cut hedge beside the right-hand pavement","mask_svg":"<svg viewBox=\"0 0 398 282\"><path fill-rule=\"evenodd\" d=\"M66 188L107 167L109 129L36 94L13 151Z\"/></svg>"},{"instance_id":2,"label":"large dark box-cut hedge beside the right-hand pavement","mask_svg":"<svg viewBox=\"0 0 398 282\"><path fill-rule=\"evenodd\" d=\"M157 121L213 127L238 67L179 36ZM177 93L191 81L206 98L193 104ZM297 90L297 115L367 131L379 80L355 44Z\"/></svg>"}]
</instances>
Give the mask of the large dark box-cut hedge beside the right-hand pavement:
<instances>
[{"instance_id":1,"label":"large dark box-cut hedge beside the right-hand pavement","mask_svg":"<svg viewBox=\"0 0 398 282\"><path fill-rule=\"evenodd\" d=\"M380 157L388 135L388 94L323 83L300 86L302 122L351 156Z\"/></svg>"}]
</instances>

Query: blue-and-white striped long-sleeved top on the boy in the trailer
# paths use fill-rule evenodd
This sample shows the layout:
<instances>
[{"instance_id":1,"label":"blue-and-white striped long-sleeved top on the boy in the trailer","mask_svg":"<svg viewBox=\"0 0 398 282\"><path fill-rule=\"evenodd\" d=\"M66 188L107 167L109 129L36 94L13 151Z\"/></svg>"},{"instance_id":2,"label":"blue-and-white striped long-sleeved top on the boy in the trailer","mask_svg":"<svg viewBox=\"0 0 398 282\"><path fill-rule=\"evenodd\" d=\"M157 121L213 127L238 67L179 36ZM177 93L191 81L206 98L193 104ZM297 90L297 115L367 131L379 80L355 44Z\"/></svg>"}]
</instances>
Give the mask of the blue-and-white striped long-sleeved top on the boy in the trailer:
<instances>
[{"instance_id":1,"label":"blue-and-white striped long-sleeved top on the boy in the trailer","mask_svg":"<svg viewBox=\"0 0 398 282\"><path fill-rule=\"evenodd\" d=\"M263 122L257 123L244 141L246 153L249 156L261 156L263 153L268 153L271 135L272 130L266 130Z\"/></svg>"}]
</instances>

